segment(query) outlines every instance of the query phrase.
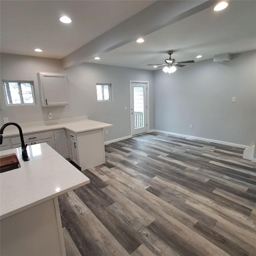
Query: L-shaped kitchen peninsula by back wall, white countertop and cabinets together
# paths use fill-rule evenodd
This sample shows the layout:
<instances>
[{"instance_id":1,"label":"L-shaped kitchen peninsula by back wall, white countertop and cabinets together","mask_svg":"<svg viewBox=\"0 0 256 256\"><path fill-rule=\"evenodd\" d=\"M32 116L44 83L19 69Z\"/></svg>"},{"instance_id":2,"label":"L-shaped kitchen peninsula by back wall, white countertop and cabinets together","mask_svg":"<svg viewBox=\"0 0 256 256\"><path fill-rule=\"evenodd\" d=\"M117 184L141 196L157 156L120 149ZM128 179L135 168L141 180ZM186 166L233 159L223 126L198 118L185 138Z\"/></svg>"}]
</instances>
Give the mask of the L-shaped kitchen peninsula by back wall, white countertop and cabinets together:
<instances>
[{"instance_id":1,"label":"L-shaped kitchen peninsula by back wall, white countertop and cabinets together","mask_svg":"<svg viewBox=\"0 0 256 256\"><path fill-rule=\"evenodd\" d=\"M86 170L105 163L103 128L112 126L87 116L20 124L25 144L46 142L65 158ZM20 147L18 129L4 130L1 150Z\"/></svg>"}]
</instances>

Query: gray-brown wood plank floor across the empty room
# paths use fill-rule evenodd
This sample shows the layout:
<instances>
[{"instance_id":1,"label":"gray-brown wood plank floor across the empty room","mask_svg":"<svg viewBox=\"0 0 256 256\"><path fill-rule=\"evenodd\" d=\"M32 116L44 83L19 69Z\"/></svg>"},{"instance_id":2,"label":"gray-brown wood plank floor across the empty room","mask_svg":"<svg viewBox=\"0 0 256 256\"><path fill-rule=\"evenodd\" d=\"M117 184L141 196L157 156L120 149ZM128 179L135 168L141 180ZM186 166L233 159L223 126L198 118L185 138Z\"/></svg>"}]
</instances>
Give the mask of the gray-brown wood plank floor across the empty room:
<instances>
[{"instance_id":1,"label":"gray-brown wood plank floor across the empty room","mask_svg":"<svg viewBox=\"0 0 256 256\"><path fill-rule=\"evenodd\" d=\"M59 196L67 256L256 255L256 165L243 149L144 134L105 146Z\"/></svg>"}]
</instances>

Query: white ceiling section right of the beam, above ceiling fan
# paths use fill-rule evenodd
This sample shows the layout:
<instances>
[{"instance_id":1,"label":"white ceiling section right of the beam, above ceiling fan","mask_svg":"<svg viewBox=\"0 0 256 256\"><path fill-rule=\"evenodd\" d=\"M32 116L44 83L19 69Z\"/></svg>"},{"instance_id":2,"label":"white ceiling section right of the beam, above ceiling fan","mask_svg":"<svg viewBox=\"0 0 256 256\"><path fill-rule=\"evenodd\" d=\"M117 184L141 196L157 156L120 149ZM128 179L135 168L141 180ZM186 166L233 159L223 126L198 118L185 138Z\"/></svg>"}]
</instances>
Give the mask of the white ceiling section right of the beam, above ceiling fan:
<instances>
[{"instance_id":1,"label":"white ceiling section right of the beam, above ceiling fan","mask_svg":"<svg viewBox=\"0 0 256 256\"><path fill-rule=\"evenodd\" d=\"M174 50L176 61L206 60L222 53L256 49L256 1L231 1L215 12L207 8L156 32L100 55L88 62L155 70L146 64L161 64ZM196 59L197 55L202 55ZM191 64L187 64L191 65Z\"/></svg>"}]
</instances>

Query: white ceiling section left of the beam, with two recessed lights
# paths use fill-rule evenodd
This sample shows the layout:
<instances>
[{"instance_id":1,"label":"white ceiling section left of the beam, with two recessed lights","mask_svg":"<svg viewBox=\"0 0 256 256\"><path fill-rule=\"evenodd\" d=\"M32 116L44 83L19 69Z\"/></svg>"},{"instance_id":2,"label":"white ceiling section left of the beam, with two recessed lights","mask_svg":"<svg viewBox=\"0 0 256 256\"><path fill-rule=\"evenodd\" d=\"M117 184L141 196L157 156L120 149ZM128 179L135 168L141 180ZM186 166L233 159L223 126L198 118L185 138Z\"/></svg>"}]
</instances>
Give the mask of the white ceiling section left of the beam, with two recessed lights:
<instances>
[{"instance_id":1,"label":"white ceiling section left of the beam, with two recessed lights","mask_svg":"<svg viewBox=\"0 0 256 256\"><path fill-rule=\"evenodd\" d=\"M1 0L1 52L62 59L153 2Z\"/></svg>"}]
</instances>

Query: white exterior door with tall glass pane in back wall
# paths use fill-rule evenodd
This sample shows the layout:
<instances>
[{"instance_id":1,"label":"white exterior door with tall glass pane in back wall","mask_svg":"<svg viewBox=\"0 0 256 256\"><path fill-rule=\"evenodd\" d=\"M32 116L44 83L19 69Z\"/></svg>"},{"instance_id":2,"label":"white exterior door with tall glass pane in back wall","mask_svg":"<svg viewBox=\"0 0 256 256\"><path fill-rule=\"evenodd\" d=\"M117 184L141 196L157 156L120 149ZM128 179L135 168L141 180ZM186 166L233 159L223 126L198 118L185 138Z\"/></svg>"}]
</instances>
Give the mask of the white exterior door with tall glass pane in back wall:
<instances>
[{"instance_id":1,"label":"white exterior door with tall glass pane in back wall","mask_svg":"<svg viewBox=\"0 0 256 256\"><path fill-rule=\"evenodd\" d=\"M147 132L148 82L130 82L130 114L132 136Z\"/></svg>"}]
</instances>

